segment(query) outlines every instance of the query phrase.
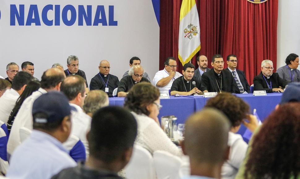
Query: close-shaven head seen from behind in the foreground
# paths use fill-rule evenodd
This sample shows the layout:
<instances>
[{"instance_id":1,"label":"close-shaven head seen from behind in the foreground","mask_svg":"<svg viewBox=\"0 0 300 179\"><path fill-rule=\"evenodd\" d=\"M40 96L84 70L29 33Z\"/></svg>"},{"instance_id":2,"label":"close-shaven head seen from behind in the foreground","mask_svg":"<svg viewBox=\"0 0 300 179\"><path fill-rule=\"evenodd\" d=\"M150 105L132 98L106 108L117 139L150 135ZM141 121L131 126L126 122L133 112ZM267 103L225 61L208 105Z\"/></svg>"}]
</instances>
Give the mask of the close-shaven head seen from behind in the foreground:
<instances>
[{"instance_id":1,"label":"close-shaven head seen from behind in the foreground","mask_svg":"<svg viewBox=\"0 0 300 179\"><path fill-rule=\"evenodd\" d=\"M221 177L221 166L228 159L230 123L220 111L206 108L185 123L182 150L190 157L191 175ZM203 173L204 172L204 173Z\"/></svg>"}]
</instances>

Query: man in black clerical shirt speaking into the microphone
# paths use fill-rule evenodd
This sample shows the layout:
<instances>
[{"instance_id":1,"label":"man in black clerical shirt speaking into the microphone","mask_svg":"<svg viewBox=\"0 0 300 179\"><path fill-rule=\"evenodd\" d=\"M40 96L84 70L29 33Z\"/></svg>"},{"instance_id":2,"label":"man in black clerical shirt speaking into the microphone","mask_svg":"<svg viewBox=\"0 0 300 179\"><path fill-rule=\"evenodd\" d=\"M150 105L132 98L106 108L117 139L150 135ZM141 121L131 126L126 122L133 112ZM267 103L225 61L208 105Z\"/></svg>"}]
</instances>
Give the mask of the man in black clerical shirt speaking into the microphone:
<instances>
[{"instance_id":1,"label":"man in black clerical shirt speaking into the microphone","mask_svg":"<svg viewBox=\"0 0 300 179\"><path fill-rule=\"evenodd\" d=\"M199 90L201 82L194 79L195 66L191 63L187 63L183 66L182 74L183 76L178 77L173 81L171 87L171 95L192 95L201 92Z\"/></svg>"}]
</instances>

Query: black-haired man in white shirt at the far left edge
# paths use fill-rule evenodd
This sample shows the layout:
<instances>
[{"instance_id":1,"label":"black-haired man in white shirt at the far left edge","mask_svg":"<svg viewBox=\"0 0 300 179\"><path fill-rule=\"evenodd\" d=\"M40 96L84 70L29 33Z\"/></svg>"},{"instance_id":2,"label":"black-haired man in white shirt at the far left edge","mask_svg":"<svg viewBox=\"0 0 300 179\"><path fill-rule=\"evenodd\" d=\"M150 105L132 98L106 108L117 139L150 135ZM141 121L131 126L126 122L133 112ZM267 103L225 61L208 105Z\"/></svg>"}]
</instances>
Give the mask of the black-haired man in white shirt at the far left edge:
<instances>
[{"instance_id":1,"label":"black-haired man in white shirt at the far left edge","mask_svg":"<svg viewBox=\"0 0 300 179\"><path fill-rule=\"evenodd\" d=\"M25 90L29 81L33 80L33 76L27 72L19 72L12 81L11 89L6 90L0 98L0 120L7 123L11 110L15 107L16 101Z\"/></svg>"}]
</instances>

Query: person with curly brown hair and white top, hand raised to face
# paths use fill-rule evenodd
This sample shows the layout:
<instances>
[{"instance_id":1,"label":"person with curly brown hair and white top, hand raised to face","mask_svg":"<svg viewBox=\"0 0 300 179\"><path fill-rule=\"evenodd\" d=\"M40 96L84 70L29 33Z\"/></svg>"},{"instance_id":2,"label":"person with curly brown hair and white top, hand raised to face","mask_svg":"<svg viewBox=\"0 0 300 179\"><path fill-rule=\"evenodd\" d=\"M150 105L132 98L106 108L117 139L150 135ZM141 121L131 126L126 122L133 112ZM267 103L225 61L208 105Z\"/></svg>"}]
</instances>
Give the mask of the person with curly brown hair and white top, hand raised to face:
<instances>
[{"instance_id":1,"label":"person with curly brown hair and white top, hand raised to face","mask_svg":"<svg viewBox=\"0 0 300 179\"><path fill-rule=\"evenodd\" d=\"M249 105L230 93L220 93L216 97L207 101L205 107L213 107L221 110L231 123L231 130L228 135L228 146L230 146L229 159L222 166L222 179L234 179L238 173L238 169L242 164L248 144L243 140L242 136L236 134L241 127L244 119L253 124L249 130L254 131L258 125L258 121L254 115L249 113Z\"/></svg>"}]
</instances>

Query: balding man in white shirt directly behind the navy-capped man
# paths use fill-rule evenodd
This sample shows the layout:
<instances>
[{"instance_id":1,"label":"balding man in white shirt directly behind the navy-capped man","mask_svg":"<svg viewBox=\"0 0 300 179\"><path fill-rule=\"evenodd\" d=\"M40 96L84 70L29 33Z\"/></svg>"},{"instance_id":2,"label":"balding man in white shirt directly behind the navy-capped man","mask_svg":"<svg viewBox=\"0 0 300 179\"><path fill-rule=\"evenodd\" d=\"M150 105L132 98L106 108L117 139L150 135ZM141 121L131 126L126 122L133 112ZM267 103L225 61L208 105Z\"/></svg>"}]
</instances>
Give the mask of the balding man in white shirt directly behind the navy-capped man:
<instances>
[{"instance_id":1,"label":"balding man in white shirt directly behind the navy-capped man","mask_svg":"<svg viewBox=\"0 0 300 179\"><path fill-rule=\"evenodd\" d=\"M19 129L21 127L26 127L32 130L33 102L36 100L36 98L49 91L59 91L60 85L65 77L65 73L57 68L48 69L43 73L41 78L41 88L33 92L32 95L25 99L15 117L14 124L11 127L11 133L7 142L8 156L10 156L14 152L15 148L21 144Z\"/></svg>"}]
</instances>

